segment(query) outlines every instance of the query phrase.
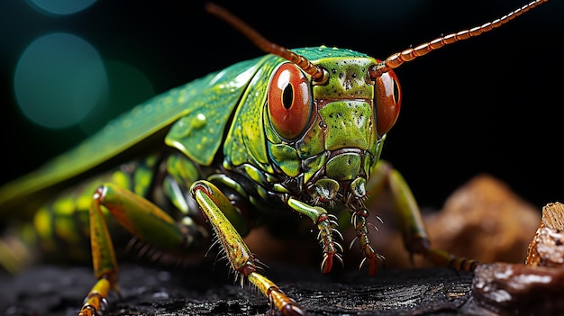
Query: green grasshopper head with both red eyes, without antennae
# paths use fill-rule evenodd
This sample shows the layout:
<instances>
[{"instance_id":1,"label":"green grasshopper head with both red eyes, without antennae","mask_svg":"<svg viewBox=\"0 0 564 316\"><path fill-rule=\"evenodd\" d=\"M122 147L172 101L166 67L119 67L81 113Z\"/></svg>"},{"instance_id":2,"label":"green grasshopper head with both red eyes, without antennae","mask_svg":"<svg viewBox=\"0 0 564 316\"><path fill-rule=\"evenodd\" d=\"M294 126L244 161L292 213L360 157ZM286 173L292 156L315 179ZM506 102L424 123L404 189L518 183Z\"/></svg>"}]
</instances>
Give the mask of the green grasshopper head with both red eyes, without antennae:
<instances>
[{"instance_id":1,"label":"green grasshopper head with both red eyes, without antennae","mask_svg":"<svg viewBox=\"0 0 564 316\"><path fill-rule=\"evenodd\" d=\"M299 51L299 50L298 50ZM295 151L303 190L314 202L363 198L383 135L396 122L401 104L392 71L373 76L378 60L350 50L319 48L316 67L326 72L316 83L291 62L275 69L268 88L266 126L271 152ZM328 56L328 57L327 57ZM295 159L271 154L285 170ZM301 176L300 175L300 176ZM296 176L296 175L291 175Z\"/></svg>"}]
</instances>

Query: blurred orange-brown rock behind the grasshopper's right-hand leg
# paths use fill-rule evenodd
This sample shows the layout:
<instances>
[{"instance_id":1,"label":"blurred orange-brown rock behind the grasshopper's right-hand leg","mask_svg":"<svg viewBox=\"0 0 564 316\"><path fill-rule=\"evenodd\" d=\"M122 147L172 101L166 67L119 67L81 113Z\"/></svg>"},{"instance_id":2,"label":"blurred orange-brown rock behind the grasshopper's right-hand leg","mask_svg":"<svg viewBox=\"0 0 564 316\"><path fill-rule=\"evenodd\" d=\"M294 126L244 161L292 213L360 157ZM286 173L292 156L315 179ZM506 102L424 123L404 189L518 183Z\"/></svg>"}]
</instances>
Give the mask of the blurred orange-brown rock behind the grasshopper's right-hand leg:
<instances>
[{"instance_id":1,"label":"blurred orange-brown rock behind the grasshopper's right-hand leg","mask_svg":"<svg viewBox=\"0 0 564 316\"><path fill-rule=\"evenodd\" d=\"M480 175L425 218L433 248L480 262L523 263L540 213L493 176Z\"/></svg>"}]
</instances>

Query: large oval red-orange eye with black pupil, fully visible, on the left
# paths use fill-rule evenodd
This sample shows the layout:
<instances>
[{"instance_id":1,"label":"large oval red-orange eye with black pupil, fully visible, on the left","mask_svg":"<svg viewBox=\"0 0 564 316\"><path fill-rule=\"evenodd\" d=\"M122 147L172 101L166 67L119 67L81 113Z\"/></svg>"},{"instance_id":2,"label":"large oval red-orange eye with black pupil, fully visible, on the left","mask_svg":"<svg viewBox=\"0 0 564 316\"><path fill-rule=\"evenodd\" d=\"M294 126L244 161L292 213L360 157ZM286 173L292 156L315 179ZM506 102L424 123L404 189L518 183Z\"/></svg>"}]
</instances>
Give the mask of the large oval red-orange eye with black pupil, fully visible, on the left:
<instances>
[{"instance_id":1,"label":"large oval red-orange eye with black pupil, fully visible, on the left","mask_svg":"<svg viewBox=\"0 0 564 316\"><path fill-rule=\"evenodd\" d=\"M305 131L312 113L309 82L300 68L286 63L277 68L268 88L268 114L272 127L285 140Z\"/></svg>"}]
</instances>

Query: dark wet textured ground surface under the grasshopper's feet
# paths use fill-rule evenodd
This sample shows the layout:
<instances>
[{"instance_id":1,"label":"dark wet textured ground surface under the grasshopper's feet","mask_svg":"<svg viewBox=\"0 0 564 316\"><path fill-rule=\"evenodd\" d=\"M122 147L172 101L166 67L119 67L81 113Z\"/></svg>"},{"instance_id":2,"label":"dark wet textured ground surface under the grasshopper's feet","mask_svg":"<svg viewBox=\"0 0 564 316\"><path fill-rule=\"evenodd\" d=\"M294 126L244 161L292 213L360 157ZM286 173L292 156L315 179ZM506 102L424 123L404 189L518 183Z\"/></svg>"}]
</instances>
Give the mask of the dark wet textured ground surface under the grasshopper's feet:
<instances>
[{"instance_id":1,"label":"dark wet textured ground surface under the grasshopper's feet","mask_svg":"<svg viewBox=\"0 0 564 316\"><path fill-rule=\"evenodd\" d=\"M469 300L472 275L449 268L383 269L320 275L317 269L265 269L309 315L487 314ZM270 311L250 286L233 284L223 266L184 270L122 266L122 300L107 315L256 315ZM75 315L95 278L87 267L37 266L0 276L0 314ZM468 302L468 300L470 302ZM478 312L477 312L478 311Z\"/></svg>"}]
</instances>

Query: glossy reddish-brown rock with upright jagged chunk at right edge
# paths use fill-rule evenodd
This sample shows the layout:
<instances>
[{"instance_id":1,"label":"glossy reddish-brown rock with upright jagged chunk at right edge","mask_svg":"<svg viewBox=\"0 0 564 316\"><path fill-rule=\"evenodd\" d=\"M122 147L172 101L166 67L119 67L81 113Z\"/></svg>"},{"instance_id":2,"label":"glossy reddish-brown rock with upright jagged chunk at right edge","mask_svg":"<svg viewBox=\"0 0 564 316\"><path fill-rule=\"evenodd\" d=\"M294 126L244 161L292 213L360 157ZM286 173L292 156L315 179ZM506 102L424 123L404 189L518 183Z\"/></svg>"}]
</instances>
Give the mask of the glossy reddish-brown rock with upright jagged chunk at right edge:
<instances>
[{"instance_id":1,"label":"glossy reddish-brown rock with upright jagged chunk at right edge","mask_svg":"<svg viewBox=\"0 0 564 316\"><path fill-rule=\"evenodd\" d=\"M564 205L544 206L525 265L478 266L472 284L476 301L503 315L564 314L563 229Z\"/></svg>"}]
</instances>

